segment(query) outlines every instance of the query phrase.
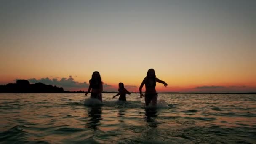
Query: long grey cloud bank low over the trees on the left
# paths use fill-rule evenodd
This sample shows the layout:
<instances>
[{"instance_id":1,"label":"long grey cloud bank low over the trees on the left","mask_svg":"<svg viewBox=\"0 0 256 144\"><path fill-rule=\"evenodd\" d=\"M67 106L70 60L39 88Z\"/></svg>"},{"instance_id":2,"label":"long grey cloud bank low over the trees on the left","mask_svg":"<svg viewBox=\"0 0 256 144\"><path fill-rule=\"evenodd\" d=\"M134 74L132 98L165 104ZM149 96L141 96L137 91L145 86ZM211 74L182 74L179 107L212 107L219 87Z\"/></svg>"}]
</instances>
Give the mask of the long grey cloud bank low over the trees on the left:
<instances>
[{"instance_id":1,"label":"long grey cloud bank low over the trees on the left","mask_svg":"<svg viewBox=\"0 0 256 144\"><path fill-rule=\"evenodd\" d=\"M88 87L88 83L83 82L77 82L74 80L74 78L70 75L69 78L61 78L61 80L58 80L56 78L50 79L48 77L46 78L41 78L41 79L35 79L35 78L31 78L28 79L28 81L30 83L44 83L47 85L56 85L56 86L60 86L60 87L70 87L70 88L85 88Z\"/></svg>"}]
</instances>

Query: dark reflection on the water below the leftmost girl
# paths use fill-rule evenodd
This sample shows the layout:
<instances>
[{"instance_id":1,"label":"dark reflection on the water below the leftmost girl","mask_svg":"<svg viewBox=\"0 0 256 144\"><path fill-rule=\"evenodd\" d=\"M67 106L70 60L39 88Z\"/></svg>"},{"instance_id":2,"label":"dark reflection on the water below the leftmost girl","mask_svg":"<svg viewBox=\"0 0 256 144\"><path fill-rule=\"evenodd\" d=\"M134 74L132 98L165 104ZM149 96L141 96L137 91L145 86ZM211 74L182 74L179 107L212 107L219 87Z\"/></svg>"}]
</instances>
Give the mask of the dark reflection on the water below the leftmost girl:
<instances>
[{"instance_id":1,"label":"dark reflection on the water below the leftmost girl","mask_svg":"<svg viewBox=\"0 0 256 144\"><path fill-rule=\"evenodd\" d=\"M88 128L96 130L100 125L100 120L102 119L101 115L101 107L91 107L91 109L88 110L88 117L90 117L88 120Z\"/></svg>"}]
</instances>

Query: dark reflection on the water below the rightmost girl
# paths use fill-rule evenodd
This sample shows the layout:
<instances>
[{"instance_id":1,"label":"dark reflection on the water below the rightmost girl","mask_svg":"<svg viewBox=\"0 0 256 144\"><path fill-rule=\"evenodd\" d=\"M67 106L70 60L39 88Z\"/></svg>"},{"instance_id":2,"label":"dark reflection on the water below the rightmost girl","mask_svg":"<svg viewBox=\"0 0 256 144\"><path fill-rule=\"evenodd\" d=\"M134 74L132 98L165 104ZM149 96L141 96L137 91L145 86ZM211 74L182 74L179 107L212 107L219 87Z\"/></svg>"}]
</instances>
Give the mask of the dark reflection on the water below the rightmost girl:
<instances>
[{"instance_id":1,"label":"dark reflection on the water below the rightmost girl","mask_svg":"<svg viewBox=\"0 0 256 144\"><path fill-rule=\"evenodd\" d=\"M145 120L148 123L148 126L150 127L157 127L157 123L155 121L155 117L157 117L157 109L154 107L151 108L145 108Z\"/></svg>"}]
</instances>

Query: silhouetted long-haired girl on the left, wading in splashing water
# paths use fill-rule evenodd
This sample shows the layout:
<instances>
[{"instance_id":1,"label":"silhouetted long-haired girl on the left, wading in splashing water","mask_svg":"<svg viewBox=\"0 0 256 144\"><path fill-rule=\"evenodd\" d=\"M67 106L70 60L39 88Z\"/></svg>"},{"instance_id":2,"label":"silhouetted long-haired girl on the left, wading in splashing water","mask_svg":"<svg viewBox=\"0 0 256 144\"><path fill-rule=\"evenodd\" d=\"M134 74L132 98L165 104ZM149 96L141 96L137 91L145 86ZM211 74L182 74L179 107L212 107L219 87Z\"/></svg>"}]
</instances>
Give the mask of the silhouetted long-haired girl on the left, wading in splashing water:
<instances>
[{"instance_id":1,"label":"silhouetted long-haired girl on the left, wading in splashing water","mask_svg":"<svg viewBox=\"0 0 256 144\"><path fill-rule=\"evenodd\" d=\"M89 88L88 91L85 93L87 96L88 93L91 91L91 98L99 99L102 102L102 91L103 91L103 83L101 81L101 75L99 72L93 72L91 76L91 80L89 80Z\"/></svg>"}]
</instances>

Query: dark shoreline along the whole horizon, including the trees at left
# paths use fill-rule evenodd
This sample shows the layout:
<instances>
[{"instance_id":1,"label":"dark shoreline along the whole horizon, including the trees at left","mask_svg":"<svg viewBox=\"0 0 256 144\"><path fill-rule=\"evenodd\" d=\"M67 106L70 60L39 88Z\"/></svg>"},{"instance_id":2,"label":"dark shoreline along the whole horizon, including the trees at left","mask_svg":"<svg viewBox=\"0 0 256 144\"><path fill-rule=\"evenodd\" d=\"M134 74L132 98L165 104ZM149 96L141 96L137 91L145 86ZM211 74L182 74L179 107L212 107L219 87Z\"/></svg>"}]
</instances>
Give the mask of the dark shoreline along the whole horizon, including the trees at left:
<instances>
[{"instance_id":1,"label":"dark shoreline along the whole horizon, including the trees at left","mask_svg":"<svg viewBox=\"0 0 256 144\"><path fill-rule=\"evenodd\" d=\"M64 91L53 85L43 83L30 84L28 80L17 80L16 83L0 85L0 93L85 93L86 91ZM103 91L102 93L117 93L116 91ZM139 92L131 92L138 93ZM169 94L179 94L179 92L164 92ZM180 93L180 94L256 94L252 93Z\"/></svg>"}]
</instances>

